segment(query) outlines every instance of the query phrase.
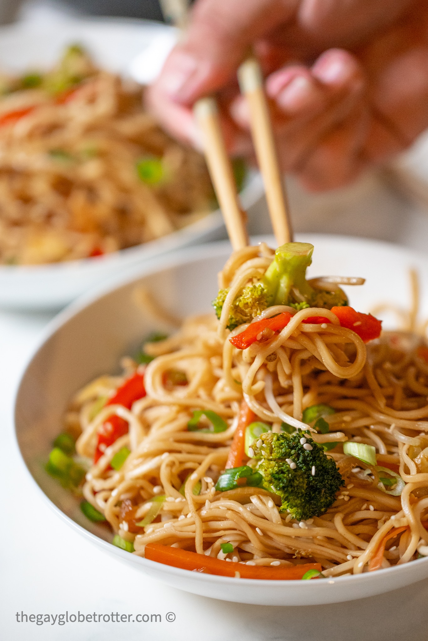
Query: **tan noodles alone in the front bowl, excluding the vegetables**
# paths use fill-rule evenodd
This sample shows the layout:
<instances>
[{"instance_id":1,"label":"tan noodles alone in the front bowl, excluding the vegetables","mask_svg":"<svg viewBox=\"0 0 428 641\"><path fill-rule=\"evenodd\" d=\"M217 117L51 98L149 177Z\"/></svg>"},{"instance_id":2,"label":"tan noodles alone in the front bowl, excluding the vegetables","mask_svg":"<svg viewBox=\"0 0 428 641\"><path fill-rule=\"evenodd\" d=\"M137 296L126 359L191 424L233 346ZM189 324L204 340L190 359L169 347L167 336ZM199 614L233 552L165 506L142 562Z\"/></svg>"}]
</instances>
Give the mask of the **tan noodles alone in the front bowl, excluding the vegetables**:
<instances>
[{"instance_id":1,"label":"tan noodles alone in the front bowl, excluding the vegetables","mask_svg":"<svg viewBox=\"0 0 428 641\"><path fill-rule=\"evenodd\" d=\"M266 246L235 252L221 283L234 296L270 260ZM85 499L115 533L133 542L139 556L146 544L158 542L255 565L308 560L320 563L325 576L338 576L407 563L418 551L428 554L428 364L420 352L422 338L383 333L366 346L354 331L341 328L334 314L311 308L296 312L271 340L240 351L225 328L228 299L220 321L214 314L192 317L172 337L146 344L155 359L144 371L147 394L131 410L105 406L90 419L98 399L113 394L137 370L129 358L123 377L103 376L75 397L67 420L81 431L76 443L81 456L94 455L97 430L109 416L129 423L128 433L90 467ZM268 308L264 315L280 311ZM331 322L302 324L317 314ZM175 370L184 372L187 385L167 383ZM327 456L345 479L326 513L298 523L278 512L277 497L266 490L215 490L243 397L277 432L282 420L307 429L302 412L313 404L336 410L325 419L329 434L312 433L318 442L336 442ZM194 410L213 410L228 428L189 431ZM346 440L373 445L378 465L399 470L406 483L401 496L382 491L376 467L343 454ZM112 469L112 457L125 445L128 458L119 470ZM166 500L157 519L137 525L158 494ZM395 528L405 529L394 537ZM224 543L233 545L232 553L222 551ZM381 558L373 567L379 549Z\"/></svg>"}]
</instances>

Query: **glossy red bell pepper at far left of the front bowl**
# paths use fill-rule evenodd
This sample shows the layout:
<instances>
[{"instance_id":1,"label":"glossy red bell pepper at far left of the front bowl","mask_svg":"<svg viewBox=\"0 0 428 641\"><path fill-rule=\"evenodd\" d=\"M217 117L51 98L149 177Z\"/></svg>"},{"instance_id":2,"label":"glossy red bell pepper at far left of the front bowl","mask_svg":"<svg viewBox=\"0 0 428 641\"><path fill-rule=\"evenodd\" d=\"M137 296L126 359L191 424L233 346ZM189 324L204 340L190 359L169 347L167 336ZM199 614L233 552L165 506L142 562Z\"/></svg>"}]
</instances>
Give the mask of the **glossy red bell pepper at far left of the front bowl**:
<instances>
[{"instance_id":1,"label":"glossy red bell pepper at far left of the front bowl","mask_svg":"<svg viewBox=\"0 0 428 641\"><path fill-rule=\"evenodd\" d=\"M123 405L126 409L130 410L132 403L145 395L144 375L137 373L131 378L128 378L122 387L116 390L116 394L108 399L106 405ZM128 422L126 420L116 415L110 416L109 419L105 420L98 428L98 444L94 454L94 463L103 456L107 447L112 445L119 437L123 437L126 433L128 433Z\"/></svg>"}]
</instances>

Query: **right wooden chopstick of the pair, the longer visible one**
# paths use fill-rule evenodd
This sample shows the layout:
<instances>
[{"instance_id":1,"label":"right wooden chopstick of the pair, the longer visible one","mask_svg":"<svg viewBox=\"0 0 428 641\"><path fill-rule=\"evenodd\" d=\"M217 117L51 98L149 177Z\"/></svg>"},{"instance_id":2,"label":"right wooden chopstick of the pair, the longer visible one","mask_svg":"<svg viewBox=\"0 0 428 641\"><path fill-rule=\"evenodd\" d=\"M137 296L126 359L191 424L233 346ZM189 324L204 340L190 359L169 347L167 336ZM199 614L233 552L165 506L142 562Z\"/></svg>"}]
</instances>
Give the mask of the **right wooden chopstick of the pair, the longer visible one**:
<instances>
[{"instance_id":1,"label":"right wooden chopstick of the pair, the longer visible one","mask_svg":"<svg viewBox=\"0 0 428 641\"><path fill-rule=\"evenodd\" d=\"M293 231L279 169L268 101L263 89L262 72L255 58L248 58L241 64L238 69L238 81L241 94L248 100L250 108L253 144L264 181L273 233L278 245L284 245L293 240Z\"/></svg>"}]
</instances>

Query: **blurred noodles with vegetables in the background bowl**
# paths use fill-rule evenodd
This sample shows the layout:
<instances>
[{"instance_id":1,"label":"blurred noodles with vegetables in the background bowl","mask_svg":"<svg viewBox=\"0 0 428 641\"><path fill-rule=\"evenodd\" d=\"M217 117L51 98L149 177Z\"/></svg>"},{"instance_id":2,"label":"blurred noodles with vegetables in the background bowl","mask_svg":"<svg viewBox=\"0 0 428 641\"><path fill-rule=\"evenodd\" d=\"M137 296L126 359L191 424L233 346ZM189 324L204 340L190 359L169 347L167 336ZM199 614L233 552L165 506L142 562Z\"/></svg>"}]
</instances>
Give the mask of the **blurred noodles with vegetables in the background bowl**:
<instances>
[{"instance_id":1,"label":"blurred noodles with vegetables in the background bowl","mask_svg":"<svg viewBox=\"0 0 428 641\"><path fill-rule=\"evenodd\" d=\"M216 208L203 157L143 94L77 45L49 72L0 76L0 264L101 256Z\"/></svg>"}]
</instances>

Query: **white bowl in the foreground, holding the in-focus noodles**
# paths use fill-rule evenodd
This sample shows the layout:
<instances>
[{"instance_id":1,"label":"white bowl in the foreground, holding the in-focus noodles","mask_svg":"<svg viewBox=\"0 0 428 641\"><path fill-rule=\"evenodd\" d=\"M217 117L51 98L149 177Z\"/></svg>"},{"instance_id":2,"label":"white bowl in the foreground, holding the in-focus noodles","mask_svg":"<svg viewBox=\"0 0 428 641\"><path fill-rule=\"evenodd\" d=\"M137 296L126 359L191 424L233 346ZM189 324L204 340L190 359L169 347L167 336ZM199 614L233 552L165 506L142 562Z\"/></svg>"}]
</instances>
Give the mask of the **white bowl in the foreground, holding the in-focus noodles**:
<instances>
[{"instance_id":1,"label":"white bowl in the foreground, holding the in-focus noodles","mask_svg":"<svg viewBox=\"0 0 428 641\"><path fill-rule=\"evenodd\" d=\"M364 287L348 288L355 308L367 312L380 299L406 306L407 270L422 279L423 312L428 314L428 260L393 245L357 238L299 235L313 242L312 276L364 276ZM270 239L273 244L273 239ZM121 551L112 535L80 512L79 501L44 472L53 438L70 397L103 372L114 372L124 354L132 354L159 324L135 304L133 292L148 287L166 309L184 317L207 312L216 295L216 274L230 254L227 243L182 250L167 264L134 271L109 290L85 297L62 312L47 329L17 394L15 424L21 453L33 478L55 512L106 554L177 588L216 599L263 605L308 605L350 601L408 585L428 577L428 558L356 576L323 581L232 579L161 565Z\"/></svg>"}]
</instances>

